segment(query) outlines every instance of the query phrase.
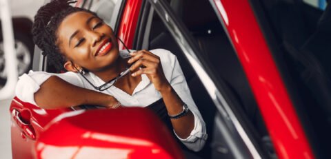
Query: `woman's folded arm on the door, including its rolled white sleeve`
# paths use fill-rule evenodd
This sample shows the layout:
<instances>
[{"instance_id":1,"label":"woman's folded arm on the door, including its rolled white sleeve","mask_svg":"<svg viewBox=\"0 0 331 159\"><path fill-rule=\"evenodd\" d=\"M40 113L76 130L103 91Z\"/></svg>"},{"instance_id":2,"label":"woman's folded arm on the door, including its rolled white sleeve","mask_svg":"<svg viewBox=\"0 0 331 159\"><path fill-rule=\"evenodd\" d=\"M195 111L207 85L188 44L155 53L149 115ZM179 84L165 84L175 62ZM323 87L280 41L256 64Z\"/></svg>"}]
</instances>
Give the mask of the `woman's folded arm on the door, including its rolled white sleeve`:
<instances>
[{"instance_id":1,"label":"woman's folded arm on the door, including its rolled white sleeve","mask_svg":"<svg viewBox=\"0 0 331 159\"><path fill-rule=\"evenodd\" d=\"M112 96L83 87L83 81L73 72L50 74L30 71L29 74L19 77L16 96L24 102L44 109L83 104L111 107L117 103Z\"/></svg>"}]
</instances>

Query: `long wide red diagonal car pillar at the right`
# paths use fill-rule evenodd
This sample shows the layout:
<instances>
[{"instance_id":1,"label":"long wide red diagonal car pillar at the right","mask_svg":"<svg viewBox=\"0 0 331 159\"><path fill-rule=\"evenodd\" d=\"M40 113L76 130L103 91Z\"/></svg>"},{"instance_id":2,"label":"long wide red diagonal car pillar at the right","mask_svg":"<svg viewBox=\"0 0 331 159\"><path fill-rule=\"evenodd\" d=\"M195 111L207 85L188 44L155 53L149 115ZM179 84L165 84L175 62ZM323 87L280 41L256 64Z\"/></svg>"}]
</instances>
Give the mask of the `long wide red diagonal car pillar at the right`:
<instances>
[{"instance_id":1,"label":"long wide red diagonal car pillar at the right","mask_svg":"<svg viewBox=\"0 0 331 159\"><path fill-rule=\"evenodd\" d=\"M248 76L279 158L314 158L247 0L214 0Z\"/></svg>"}]
</instances>

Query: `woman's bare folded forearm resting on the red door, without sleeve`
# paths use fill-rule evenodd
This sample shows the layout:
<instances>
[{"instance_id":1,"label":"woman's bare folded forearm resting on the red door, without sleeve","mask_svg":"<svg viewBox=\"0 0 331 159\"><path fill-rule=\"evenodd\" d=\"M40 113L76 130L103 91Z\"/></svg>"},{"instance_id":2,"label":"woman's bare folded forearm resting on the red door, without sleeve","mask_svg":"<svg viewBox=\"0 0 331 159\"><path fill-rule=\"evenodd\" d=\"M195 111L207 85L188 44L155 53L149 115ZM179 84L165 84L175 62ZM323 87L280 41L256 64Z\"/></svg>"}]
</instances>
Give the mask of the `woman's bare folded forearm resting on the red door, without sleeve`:
<instances>
[{"instance_id":1,"label":"woman's bare folded forearm resting on the red door, without sleeve","mask_svg":"<svg viewBox=\"0 0 331 159\"><path fill-rule=\"evenodd\" d=\"M34 93L34 100L43 109L57 109L77 105L112 107L113 96L72 85L57 76L50 76Z\"/></svg>"}]
</instances>

